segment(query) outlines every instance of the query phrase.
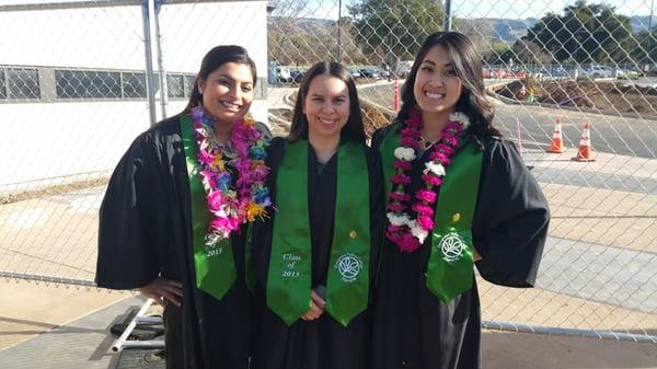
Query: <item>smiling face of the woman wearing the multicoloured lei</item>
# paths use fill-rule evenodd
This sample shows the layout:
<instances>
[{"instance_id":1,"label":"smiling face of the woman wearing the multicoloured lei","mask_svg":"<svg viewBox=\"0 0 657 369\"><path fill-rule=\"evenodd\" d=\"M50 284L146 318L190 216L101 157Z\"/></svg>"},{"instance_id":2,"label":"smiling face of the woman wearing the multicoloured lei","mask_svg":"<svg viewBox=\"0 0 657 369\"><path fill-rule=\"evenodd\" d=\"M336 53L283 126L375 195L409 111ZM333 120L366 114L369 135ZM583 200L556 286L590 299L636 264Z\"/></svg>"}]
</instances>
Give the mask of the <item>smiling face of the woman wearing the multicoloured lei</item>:
<instances>
[{"instance_id":1,"label":"smiling face of the woman wearing the multicoloured lei","mask_svg":"<svg viewBox=\"0 0 657 369\"><path fill-rule=\"evenodd\" d=\"M219 124L242 118L253 102L253 73L244 64L227 62L198 82L203 107Z\"/></svg>"}]
</instances>

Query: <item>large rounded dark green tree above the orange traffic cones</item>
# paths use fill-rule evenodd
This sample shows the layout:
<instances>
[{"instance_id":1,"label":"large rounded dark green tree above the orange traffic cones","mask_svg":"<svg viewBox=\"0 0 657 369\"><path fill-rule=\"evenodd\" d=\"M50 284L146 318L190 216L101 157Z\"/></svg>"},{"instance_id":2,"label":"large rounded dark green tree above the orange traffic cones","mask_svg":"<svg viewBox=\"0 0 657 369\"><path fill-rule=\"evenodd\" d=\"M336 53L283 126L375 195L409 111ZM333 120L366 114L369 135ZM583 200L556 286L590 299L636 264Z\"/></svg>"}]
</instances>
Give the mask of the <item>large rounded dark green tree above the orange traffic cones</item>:
<instances>
[{"instance_id":1,"label":"large rounded dark green tree above the orange traffic cones","mask_svg":"<svg viewBox=\"0 0 657 369\"><path fill-rule=\"evenodd\" d=\"M548 13L522 39L539 45L557 61L612 62L626 58L632 45L632 26L615 8L578 0L564 14Z\"/></svg>"}]
</instances>

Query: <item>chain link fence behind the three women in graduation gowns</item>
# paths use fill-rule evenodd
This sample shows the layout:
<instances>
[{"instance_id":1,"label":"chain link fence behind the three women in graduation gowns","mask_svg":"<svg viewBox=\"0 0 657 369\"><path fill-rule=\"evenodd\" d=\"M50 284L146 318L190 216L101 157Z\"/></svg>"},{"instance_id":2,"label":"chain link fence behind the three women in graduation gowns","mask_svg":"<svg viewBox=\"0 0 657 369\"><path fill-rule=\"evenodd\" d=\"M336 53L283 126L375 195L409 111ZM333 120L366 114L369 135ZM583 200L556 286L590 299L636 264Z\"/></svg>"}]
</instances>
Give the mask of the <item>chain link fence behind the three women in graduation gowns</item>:
<instances>
[{"instance_id":1,"label":"chain link fence behind the three women in graduation gowns","mask_svg":"<svg viewBox=\"0 0 657 369\"><path fill-rule=\"evenodd\" d=\"M93 285L104 181L155 108L158 117L182 108L211 46L247 47L266 74L254 114L281 134L303 72L339 60L371 132L399 108L395 91L424 38L451 27L476 45L495 124L553 212L538 288L479 281L485 325L657 343L652 1L157 2L148 14L160 32L151 26L149 43L161 57L150 74L145 5L129 2L0 5L12 35L0 57L1 275ZM549 153L557 120L565 151ZM585 123L593 161L574 161Z\"/></svg>"}]
</instances>

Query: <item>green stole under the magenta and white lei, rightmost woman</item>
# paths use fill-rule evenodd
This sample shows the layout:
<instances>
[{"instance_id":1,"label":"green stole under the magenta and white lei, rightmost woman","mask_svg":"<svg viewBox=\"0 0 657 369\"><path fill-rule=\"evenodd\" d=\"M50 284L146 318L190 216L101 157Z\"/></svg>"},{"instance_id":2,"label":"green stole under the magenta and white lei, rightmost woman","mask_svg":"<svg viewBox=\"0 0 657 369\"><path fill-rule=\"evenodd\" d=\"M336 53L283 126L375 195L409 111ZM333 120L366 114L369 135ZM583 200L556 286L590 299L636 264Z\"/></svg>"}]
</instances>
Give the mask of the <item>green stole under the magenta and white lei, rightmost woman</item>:
<instances>
[{"instance_id":1,"label":"green stole under the magenta and white lei, rightmost woman","mask_svg":"<svg viewBox=\"0 0 657 369\"><path fill-rule=\"evenodd\" d=\"M395 174L394 149L400 146L400 124L395 123L380 147L387 196L392 187L390 180ZM446 168L439 188L430 234L427 288L445 304L472 288L472 219L482 161L482 152L475 152L472 143L461 138L461 146L451 158L451 164Z\"/></svg>"}]
</instances>

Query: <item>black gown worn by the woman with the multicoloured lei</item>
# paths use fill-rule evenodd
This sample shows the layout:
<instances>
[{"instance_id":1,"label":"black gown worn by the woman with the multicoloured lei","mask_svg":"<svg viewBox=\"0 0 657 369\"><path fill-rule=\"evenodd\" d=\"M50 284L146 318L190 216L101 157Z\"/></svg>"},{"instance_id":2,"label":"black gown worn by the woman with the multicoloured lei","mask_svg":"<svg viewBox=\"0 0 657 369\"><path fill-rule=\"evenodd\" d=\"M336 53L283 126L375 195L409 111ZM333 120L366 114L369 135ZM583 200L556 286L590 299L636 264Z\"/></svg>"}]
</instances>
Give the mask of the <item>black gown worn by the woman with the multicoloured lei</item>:
<instances>
[{"instance_id":1,"label":"black gown worn by the woman with the multicoloured lei","mask_svg":"<svg viewBox=\"0 0 657 369\"><path fill-rule=\"evenodd\" d=\"M173 304L164 311L165 324L173 324L168 368L247 368L253 296L244 282L245 232L231 235L237 281L226 296L219 301L198 290L189 196L175 116L137 137L110 180L100 212L96 282L132 289L159 275L182 281L182 315Z\"/></svg>"}]
</instances>

